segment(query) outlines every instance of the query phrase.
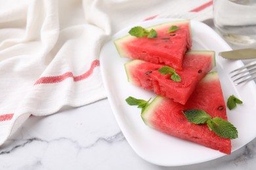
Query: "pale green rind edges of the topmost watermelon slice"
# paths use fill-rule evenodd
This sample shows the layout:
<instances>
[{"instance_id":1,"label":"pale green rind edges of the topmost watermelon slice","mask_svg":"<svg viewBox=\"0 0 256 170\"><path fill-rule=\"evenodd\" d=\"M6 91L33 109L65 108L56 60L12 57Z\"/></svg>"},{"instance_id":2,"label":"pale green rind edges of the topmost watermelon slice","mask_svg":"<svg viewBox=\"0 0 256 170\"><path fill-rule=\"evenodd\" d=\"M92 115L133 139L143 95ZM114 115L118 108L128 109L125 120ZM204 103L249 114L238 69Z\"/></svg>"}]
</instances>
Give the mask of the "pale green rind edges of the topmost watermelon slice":
<instances>
[{"instance_id":1,"label":"pale green rind edges of the topmost watermelon slice","mask_svg":"<svg viewBox=\"0 0 256 170\"><path fill-rule=\"evenodd\" d=\"M151 27L146 27L146 29L150 30L150 29L157 29L158 27L163 27L165 25L179 25L179 24L186 24L188 23L190 25L190 20L179 20L179 21L173 21L173 22L165 22L162 24L158 24L158 25L153 25ZM190 37L192 37L192 31L191 31L191 27L189 26L189 31L190 31ZM125 35L123 37L120 37L119 39L116 39L114 41L114 44L116 46L117 52L119 54L119 56L121 56L121 58L128 58L127 55L125 54L129 54L128 52L125 52L125 48L123 48L123 44L124 42L128 42L131 41L133 39L137 39L137 37L134 37L132 35ZM123 49L123 50L121 50Z\"/></svg>"}]
</instances>

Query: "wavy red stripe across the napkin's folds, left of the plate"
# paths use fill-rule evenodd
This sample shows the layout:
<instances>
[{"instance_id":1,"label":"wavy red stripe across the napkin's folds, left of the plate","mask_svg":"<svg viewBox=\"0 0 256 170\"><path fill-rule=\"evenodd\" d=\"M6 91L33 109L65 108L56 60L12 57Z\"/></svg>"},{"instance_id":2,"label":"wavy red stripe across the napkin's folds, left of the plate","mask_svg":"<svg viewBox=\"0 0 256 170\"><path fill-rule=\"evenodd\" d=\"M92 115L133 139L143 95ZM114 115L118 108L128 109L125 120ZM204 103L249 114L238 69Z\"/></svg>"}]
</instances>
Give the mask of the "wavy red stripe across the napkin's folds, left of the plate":
<instances>
[{"instance_id":1,"label":"wavy red stripe across the napkin's folds, left of the plate","mask_svg":"<svg viewBox=\"0 0 256 170\"><path fill-rule=\"evenodd\" d=\"M73 80L75 82L77 82L77 81L83 80L85 78L88 78L93 73L93 69L95 69L95 67L98 67L99 65L100 65L100 61L98 59L95 59L91 63L90 69L88 71L86 71L85 73L83 73L83 75L74 76L72 72L67 72L67 73L64 73L63 75L59 75L59 76L43 76L43 77L39 78L35 82L34 85L62 82L63 80L66 80L66 78L70 78L70 77L72 77Z\"/></svg>"}]
</instances>

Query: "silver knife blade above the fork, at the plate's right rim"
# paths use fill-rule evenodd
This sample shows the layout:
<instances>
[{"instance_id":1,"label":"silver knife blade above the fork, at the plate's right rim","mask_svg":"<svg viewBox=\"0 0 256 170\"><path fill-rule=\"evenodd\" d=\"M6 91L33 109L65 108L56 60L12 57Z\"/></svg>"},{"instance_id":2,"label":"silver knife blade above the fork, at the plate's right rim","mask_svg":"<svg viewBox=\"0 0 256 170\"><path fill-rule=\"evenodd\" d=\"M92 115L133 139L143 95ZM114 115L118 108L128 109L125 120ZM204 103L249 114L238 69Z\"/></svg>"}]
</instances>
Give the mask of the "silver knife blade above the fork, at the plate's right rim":
<instances>
[{"instance_id":1,"label":"silver knife blade above the fork, at the plate's right rim","mask_svg":"<svg viewBox=\"0 0 256 170\"><path fill-rule=\"evenodd\" d=\"M253 59L256 58L256 49L245 48L240 50L219 52L219 56L222 56L226 59Z\"/></svg>"}]
</instances>

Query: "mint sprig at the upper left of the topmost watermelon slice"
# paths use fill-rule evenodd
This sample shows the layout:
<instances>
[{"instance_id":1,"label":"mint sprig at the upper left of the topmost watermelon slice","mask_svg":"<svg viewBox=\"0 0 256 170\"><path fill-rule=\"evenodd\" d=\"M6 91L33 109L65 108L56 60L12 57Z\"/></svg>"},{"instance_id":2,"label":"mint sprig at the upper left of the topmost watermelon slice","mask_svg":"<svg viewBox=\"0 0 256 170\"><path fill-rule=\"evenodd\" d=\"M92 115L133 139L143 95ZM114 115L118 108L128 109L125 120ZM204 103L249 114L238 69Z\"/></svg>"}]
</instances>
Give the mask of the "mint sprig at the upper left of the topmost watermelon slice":
<instances>
[{"instance_id":1,"label":"mint sprig at the upper left of the topmost watermelon slice","mask_svg":"<svg viewBox=\"0 0 256 170\"><path fill-rule=\"evenodd\" d=\"M129 31L129 34L132 36L135 36L137 38L147 37L147 38L151 39L154 37L158 37L158 33L156 32L155 29L150 29L150 31L148 31L144 27L140 27L140 26L131 28Z\"/></svg>"}]
</instances>

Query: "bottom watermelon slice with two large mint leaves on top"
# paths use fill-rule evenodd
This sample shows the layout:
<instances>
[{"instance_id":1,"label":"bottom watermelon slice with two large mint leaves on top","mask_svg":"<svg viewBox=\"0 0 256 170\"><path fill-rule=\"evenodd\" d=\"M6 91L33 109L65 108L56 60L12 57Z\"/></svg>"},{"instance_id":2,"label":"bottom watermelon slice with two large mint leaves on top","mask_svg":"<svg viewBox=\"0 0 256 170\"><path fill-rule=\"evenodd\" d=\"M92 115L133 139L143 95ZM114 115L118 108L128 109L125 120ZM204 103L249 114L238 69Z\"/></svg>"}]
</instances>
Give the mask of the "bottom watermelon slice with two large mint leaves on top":
<instances>
[{"instance_id":1,"label":"bottom watermelon slice with two large mint leaves on top","mask_svg":"<svg viewBox=\"0 0 256 170\"><path fill-rule=\"evenodd\" d=\"M197 85L186 105L181 105L167 97L157 96L142 112L145 124L181 139L193 141L203 146L231 153L230 139L224 139L210 131L206 124L188 122L182 111L202 109L213 118L227 120L223 92L217 72L208 73Z\"/></svg>"}]
</instances>

